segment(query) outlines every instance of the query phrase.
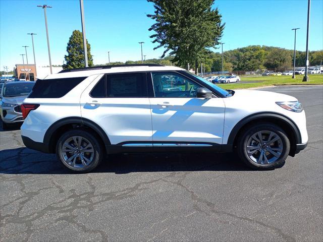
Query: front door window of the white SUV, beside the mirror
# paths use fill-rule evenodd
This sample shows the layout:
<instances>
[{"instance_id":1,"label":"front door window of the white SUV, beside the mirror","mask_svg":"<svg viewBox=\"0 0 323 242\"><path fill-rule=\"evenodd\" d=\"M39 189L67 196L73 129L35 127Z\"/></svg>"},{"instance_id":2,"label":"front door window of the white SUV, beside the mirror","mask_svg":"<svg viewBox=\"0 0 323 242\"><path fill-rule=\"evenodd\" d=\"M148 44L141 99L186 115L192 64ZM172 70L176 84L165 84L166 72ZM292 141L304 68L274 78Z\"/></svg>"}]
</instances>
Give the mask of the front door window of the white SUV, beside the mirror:
<instances>
[{"instance_id":1,"label":"front door window of the white SUV, beside the mirror","mask_svg":"<svg viewBox=\"0 0 323 242\"><path fill-rule=\"evenodd\" d=\"M201 86L175 73L151 73L155 97L196 97Z\"/></svg>"}]
</instances>

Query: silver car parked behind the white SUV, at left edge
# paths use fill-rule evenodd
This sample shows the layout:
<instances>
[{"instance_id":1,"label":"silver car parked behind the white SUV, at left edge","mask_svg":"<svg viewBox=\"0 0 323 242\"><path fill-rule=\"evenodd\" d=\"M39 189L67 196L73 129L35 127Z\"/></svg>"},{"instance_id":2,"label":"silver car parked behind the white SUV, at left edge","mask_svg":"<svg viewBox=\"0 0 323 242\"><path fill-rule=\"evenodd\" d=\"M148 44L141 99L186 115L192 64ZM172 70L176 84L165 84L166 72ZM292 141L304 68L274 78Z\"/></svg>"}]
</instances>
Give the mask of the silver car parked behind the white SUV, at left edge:
<instances>
[{"instance_id":1,"label":"silver car parked behind the white SUV, at left edge","mask_svg":"<svg viewBox=\"0 0 323 242\"><path fill-rule=\"evenodd\" d=\"M2 128L9 124L22 123L21 104L31 92L34 82L7 82L0 93L0 114Z\"/></svg>"}]
</instances>

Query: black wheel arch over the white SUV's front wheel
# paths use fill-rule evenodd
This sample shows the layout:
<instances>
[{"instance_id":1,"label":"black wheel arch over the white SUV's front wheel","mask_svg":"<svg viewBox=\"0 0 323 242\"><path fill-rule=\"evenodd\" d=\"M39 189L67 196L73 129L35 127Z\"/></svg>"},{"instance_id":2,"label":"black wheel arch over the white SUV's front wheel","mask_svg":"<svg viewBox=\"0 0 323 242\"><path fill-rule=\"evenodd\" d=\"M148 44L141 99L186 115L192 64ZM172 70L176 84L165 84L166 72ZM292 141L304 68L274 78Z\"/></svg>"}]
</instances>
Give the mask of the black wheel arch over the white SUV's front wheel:
<instances>
[{"instance_id":1,"label":"black wheel arch over the white SUV's front wheel","mask_svg":"<svg viewBox=\"0 0 323 242\"><path fill-rule=\"evenodd\" d=\"M232 129L227 144L232 145L233 148L235 148L237 146L238 138L245 128L264 122L278 125L286 132L291 143L289 155L294 156L296 144L301 143L300 131L293 120L283 114L275 112L260 112L244 117Z\"/></svg>"}]
</instances>

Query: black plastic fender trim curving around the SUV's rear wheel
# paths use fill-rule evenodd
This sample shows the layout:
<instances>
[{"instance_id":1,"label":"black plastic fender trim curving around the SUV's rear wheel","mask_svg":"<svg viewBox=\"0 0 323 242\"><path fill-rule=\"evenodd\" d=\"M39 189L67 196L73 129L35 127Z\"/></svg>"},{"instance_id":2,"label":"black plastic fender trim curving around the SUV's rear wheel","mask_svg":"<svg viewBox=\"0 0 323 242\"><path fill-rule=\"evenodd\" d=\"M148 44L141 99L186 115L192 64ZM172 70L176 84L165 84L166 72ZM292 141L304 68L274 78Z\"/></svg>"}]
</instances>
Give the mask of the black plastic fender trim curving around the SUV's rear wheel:
<instances>
[{"instance_id":1,"label":"black plastic fender trim curving around the SUV's rear wheel","mask_svg":"<svg viewBox=\"0 0 323 242\"><path fill-rule=\"evenodd\" d=\"M53 144L52 143L52 137L55 135L55 132L62 126L68 125L68 124L79 124L79 125L86 125L93 129L102 139L104 146L111 145L111 142L109 140L109 137L107 137L106 133L102 130L102 128L94 123L92 120L89 120L87 118L82 117L66 117L58 120L57 122L53 123L46 131L43 143L48 144L49 149L52 149Z\"/></svg>"}]
</instances>

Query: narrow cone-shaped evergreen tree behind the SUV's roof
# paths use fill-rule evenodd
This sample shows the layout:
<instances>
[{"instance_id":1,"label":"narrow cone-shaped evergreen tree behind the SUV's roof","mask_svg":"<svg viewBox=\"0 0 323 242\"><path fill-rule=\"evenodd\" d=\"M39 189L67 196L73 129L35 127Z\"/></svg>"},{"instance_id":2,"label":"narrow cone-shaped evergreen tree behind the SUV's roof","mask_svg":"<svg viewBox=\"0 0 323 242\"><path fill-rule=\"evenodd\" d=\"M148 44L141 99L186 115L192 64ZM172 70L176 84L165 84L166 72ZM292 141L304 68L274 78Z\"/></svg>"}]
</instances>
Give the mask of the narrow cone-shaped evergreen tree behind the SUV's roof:
<instances>
[{"instance_id":1,"label":"narrow cone-shaped evergreen tree behind the SUV's roof","mask_svg":"<svg viewBox=\"0 0 323 242\"><path fill-rule=\"evenodd\" d=\"M74 30L69 42L67 43L67 55L65 55L66 64L63 65L63 69L73 69L85 67L84 49L83 49L83 35L79 30ZM87 60L88 66L93 65L93 58L91 55L91 45L86 40L87 46Z\"/></svg>"}]
</instances>

